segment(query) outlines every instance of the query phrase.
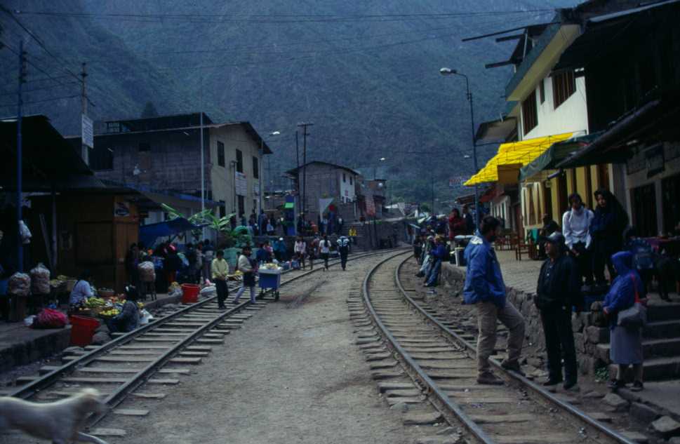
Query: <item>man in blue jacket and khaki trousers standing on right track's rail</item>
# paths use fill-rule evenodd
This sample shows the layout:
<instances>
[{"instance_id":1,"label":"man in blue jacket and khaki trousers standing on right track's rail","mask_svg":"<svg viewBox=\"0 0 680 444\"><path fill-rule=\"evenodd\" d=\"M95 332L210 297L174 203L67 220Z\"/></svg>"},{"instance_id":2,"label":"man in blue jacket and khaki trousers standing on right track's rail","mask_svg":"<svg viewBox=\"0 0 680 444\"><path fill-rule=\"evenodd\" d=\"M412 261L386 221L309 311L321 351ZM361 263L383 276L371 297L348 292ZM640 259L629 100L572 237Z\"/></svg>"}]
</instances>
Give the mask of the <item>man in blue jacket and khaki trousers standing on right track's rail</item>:
<instances>
[{"instance_id":1,"label":"man in blue jacket and khaki trousers standing on right track's rail","mask_svg":"<svg viewBox=\"0 0 680 444\"><path fill-rule=\"evenodd\" d=\"M493 216L482 220L476 235L465 248L467 273L463 295L465 304L476 304L477 325L477 383L502 384L491 372L488 362L496 344L496 323L500 321L509 331L507 358L501 365L506 370L521 372L519 357L524 342L524 318L507 301L505 283L500 273L498 258L491 246L500 235L500 222Z\"/></svg>"}]
</instances>

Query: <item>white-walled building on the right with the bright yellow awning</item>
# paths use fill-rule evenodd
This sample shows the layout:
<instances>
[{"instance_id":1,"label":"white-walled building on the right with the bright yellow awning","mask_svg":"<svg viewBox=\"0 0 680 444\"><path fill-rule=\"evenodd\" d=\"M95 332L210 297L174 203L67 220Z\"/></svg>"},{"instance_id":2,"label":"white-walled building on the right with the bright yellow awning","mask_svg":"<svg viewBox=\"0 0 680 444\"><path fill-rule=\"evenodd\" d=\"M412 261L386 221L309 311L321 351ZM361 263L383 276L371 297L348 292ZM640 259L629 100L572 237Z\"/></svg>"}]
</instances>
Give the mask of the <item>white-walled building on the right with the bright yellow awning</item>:
<instances>
[{"instance_id":1,"label":"white-walled building on the right with the bright yellow awning","mask_svg":"<svg viewBox=\"0 0 680 444\"><path fill-rule=\"evenodd\" d=\"M513 36L518 43L509 60L487 65L514 65L514 75L505 89L504 119L486 122L478 132L480 141L488 141L490 135L505 143L481 170L487 174L481 174L484 177L478 177L477 183L486 180L505 187L507 192L498 193L491 202L491 213L509 215L506 220L521 236L542 227L544 214L561 223L569 194L578 192L593 208L595 189L613 189L609 163L554 169L569 149L574 151L589 140L586 74L582 69L554 69L580 32L571 10L558 10L552 23L533 25ZM559 144L561 159L553 156L557 150L552 149ZM540 168L526 168L543 154ZM490 169L493 177L488 175Z\"/></svg>"}]
</instances>

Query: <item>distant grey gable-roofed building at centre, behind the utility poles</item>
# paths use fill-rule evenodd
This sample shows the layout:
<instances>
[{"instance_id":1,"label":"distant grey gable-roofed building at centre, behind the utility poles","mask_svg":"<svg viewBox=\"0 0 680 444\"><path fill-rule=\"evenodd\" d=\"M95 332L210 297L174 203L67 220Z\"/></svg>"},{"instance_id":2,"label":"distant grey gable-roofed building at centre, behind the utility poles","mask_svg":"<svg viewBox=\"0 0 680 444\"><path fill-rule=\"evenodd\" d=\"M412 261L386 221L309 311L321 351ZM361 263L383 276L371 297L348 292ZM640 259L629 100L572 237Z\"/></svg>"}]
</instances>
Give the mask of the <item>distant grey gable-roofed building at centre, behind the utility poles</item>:
<instances>
[{"instance_id":1,"label":"distant grey gable-roofed building at centre, behind the utility poles","mask_svg":"<svg viewBox=\"0 0 680 444\"><path fill-rule=\"evenodd\" d=\"M306 199L302 207L307 208L307 220L316 222L319 213L328 207L324 207L327 199L332 199L331 204L338 209L343 219L355 220L359 217L356 201L361 175L352 168L313 161L286 171L286 175L293 180L293 188L299 190L299 199Z\"/></svg>"}]
</instances>

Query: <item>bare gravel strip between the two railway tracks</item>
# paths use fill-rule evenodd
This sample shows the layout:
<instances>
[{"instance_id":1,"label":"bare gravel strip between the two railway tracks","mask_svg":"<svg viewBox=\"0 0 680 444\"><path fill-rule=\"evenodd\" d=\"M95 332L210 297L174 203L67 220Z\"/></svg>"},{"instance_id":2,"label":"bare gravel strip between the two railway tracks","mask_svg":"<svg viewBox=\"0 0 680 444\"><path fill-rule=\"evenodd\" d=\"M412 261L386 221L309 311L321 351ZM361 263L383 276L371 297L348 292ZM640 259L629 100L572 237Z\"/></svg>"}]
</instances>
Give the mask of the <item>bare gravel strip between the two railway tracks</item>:
<instances>
[{"instance_id":1,"label":"bare gravel strip between the two railway tracks","mask_svg":"<svg viewBox=\"0 0 680 444\"><path fill-rule=\"evenodd\" d=\"M162 401L126 401L149 408L145 418L110 415L100 424L125 429L110 443L413 443L406 427L376 391L354 345L346 298L359 288L369 264L349 262L305 278L281 302L267 304L232 332L225 346L184 377L158 388ZM300 307L288 302L327 281ZM285 288L285 287L284 287ZM149 391L145 389L145 391Z\"/></svg>"}]
</instances>

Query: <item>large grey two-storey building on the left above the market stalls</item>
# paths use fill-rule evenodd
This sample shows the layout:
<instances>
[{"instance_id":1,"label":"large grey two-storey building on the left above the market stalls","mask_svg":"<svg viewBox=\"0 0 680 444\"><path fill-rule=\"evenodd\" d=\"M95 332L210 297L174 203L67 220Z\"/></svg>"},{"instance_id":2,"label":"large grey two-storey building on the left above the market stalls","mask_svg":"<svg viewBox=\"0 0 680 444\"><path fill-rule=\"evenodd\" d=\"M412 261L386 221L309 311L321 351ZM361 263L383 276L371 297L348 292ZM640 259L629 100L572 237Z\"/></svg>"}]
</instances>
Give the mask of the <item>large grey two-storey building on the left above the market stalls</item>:
<instances>
[{"instance_id":1,"label":"large grey two-storey building on the left above the market stalls","mask_svg":"<svg viewBox=\"0 0 680 444\"><path fill-rule=\"evenodd\" d=\"M221 216L259 213L267 143L249 122L214 123L206 114L203 137L205 199L220 204ZM201 197L201 113L97 122L90 164L103 180ZM151 212L144 222L164 218Z\"/></svg>"}]
</instances>

